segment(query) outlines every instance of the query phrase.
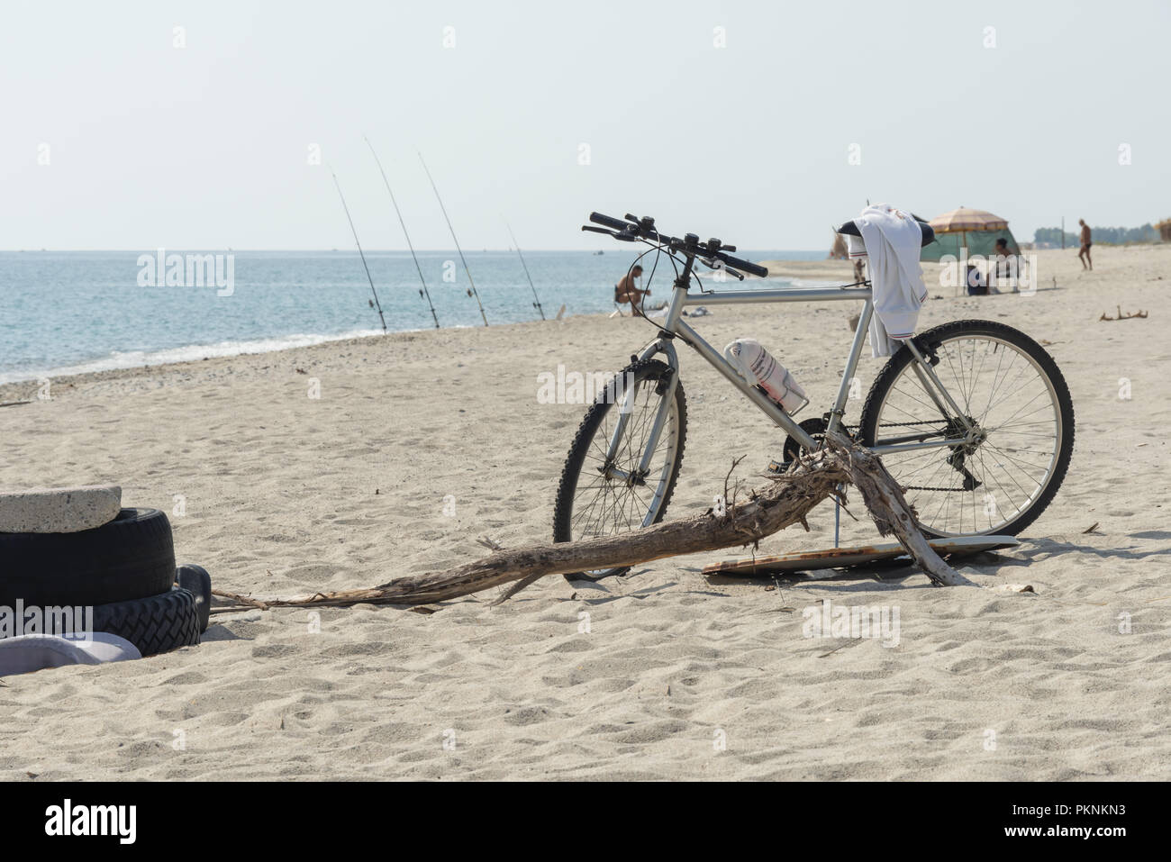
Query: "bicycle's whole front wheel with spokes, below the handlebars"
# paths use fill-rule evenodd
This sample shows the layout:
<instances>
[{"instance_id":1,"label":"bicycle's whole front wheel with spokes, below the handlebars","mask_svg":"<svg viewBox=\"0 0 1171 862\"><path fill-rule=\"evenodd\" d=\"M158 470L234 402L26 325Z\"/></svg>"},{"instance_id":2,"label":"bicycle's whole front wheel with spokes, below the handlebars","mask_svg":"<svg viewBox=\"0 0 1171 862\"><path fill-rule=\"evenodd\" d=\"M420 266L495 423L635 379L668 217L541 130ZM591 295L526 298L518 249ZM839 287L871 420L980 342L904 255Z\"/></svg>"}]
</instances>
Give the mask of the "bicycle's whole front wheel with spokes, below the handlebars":
<instances>
[{"instance_id":1,"label":"bicycle's whole front wheel with spokes, below the handlebars","mask_svg":"<svg viewBox=\"0 0 1171 862\"><path fill-rule=\"evenodd\" d=\"M553 514L554 542L617 535L663 520L679 477L686 438L687 402L682 382L676 383L650 464L646 470L639 466L672 375L671 368L658 360L642 360L625 369L630 405L610 458L607 456L622 418L622 398L612 397L608 388L590 406L561 471ZM597 581L628 570L577 572L566 579Z\"/></svg>"}]
</instances>

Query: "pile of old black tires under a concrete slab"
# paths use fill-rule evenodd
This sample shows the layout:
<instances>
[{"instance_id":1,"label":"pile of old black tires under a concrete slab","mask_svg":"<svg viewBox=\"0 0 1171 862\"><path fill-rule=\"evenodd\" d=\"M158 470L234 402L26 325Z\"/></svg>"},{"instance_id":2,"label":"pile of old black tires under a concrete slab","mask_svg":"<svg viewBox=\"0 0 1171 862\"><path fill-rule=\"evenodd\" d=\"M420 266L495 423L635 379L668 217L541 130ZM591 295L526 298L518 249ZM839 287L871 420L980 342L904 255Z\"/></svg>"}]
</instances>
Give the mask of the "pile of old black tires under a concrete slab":
<instances>
[{"instance_id":1,"label":"pile of old black tires under a concrete slab","mask_svg":"<svg viewBox=\"0 0 1171 862\"><path fill-rule=\"evenodd\" d=\"M77 533L0 533L0 606L93 607L94 631L143 656L197 644L207 627L207 573L183 569L198 572L177 573L171 524L157 508L123 508Z\"/></svg>"}]
</instances>

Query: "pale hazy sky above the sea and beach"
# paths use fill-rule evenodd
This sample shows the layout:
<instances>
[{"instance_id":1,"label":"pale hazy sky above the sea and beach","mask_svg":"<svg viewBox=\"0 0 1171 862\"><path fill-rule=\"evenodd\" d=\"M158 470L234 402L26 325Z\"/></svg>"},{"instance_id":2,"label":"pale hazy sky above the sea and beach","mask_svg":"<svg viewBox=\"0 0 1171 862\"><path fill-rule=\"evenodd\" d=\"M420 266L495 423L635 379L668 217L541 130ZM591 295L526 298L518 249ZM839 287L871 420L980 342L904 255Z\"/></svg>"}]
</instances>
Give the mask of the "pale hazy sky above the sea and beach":
<instances>
[{"instance_id":1,"label":"pale hazy sky above the sea and beach","mask_svg":"<svg viewBox=\"0 0 1171 862\"><path fill-rule=\"evenodd\" d=\"M2 0L0 248L352 248L314 144L403 248L363 134L420 248L452 246L417 149L468 249L501 214L609 247L590 210L822 248L867 198L1136 226L1171 216L1169 35L1166 0Z\"/></svg>"}]
</instances>

